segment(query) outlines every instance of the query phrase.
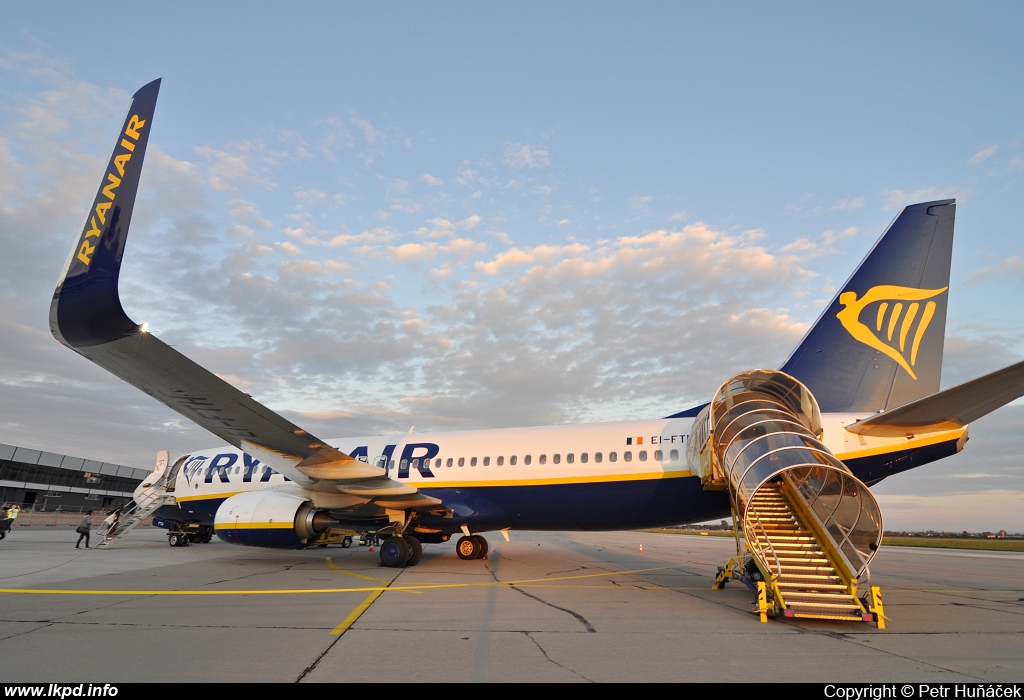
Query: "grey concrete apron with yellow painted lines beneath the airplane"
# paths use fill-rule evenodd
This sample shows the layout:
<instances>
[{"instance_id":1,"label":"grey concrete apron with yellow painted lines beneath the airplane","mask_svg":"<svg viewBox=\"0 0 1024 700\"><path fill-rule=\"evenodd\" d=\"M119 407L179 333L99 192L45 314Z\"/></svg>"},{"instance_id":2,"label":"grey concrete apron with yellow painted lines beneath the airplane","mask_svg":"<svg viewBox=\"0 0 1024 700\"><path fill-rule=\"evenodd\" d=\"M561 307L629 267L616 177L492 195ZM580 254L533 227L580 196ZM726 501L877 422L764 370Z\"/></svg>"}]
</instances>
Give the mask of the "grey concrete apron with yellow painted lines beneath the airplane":
<instances>
[{"instance_id":1,"label":"grey concrete apron with yellow painted lines beneath the airplane","mask_svg":"<svg viewBox=\"0 0 1024 700\"><path fill-rule=\"evenodd\" d=\"M487 533L408 569L366 546L300 551L71 525L0 541L4 683L1020 683L1024 554L883 548L886 628L773 618L712 590L731 538ZM93 537L93 545L97 537ZM642 551L641 551L642 546Z\"/></svg>"}]
</instances>

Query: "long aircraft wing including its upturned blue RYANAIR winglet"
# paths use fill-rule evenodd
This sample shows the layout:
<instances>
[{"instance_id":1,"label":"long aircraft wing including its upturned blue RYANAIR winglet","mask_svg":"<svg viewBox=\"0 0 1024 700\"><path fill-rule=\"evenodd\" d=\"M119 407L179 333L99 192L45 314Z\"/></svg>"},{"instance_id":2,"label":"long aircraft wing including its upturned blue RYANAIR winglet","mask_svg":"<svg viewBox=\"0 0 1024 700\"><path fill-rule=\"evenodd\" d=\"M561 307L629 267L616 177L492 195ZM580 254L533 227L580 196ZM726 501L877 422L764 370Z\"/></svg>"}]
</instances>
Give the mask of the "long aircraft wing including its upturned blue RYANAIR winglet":
<instances>
[{"instance_id":1,"label":"long aircraft wing including its upturned blue RYANAIR winglet","mask_svg":"<svg viewBox=\"0 0 1024 700\"><path fill-rule=\"evenodd\" d=\"M142 160L160 91L156 80L135 93L85 225L65 264L50 304L50 331L75 352L144 391L217 437L293 481L330 480L338 489L373 480L375 497L403 504L440 501L387 478L239 391L131 320L118 278Z\"/></svg>"}]
</instances>

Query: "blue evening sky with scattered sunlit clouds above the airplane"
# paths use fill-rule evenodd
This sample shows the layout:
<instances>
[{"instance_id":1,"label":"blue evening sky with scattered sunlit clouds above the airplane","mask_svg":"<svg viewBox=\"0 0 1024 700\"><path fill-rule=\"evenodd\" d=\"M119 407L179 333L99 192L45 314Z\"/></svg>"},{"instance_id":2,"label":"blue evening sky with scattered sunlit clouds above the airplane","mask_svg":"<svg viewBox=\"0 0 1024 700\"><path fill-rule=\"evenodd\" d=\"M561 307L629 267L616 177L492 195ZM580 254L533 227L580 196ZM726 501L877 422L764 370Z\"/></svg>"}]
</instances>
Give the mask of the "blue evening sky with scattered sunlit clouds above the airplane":
<instances>
[{"instance_id":1,"label":"blue evening sky with scattered sunlit clouds above the airplane","mask_svg":"<svg viewBox=\"0 0 1024 700\"><path fill-rule=\"evenodd\" d=\"M0 442L217 443L48 307L162 78L128 315L324 437L659 418L778 367L955 198L943 387L1024 356L1024 5L0 4ZM1024 406L873 490L1024 531Z\"/></svg>"}]
</instances>

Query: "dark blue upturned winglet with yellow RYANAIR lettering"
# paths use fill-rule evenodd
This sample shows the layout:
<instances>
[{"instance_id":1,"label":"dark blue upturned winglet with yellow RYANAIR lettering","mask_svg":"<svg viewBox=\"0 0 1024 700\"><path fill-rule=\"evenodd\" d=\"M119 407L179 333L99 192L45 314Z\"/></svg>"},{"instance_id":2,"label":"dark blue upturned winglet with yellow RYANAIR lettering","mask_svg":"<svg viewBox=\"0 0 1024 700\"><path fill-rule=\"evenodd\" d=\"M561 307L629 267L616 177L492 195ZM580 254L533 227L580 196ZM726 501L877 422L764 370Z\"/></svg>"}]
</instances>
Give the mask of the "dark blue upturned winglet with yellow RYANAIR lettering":
<instances>
[{"instance_id":1,"label":"dark blue upturned winglet with yellow RYANAIR lettering","mask_svg":"<svg viewBox=\"0 0 1024 700\"><path fill-rule=\"evenodd\" d=\"M50 331L69 347L98 345L138 333L138 325L121 307L118 277L159 92L158 78L135 93L53 293Z\"/></svg>"}]
</instances>

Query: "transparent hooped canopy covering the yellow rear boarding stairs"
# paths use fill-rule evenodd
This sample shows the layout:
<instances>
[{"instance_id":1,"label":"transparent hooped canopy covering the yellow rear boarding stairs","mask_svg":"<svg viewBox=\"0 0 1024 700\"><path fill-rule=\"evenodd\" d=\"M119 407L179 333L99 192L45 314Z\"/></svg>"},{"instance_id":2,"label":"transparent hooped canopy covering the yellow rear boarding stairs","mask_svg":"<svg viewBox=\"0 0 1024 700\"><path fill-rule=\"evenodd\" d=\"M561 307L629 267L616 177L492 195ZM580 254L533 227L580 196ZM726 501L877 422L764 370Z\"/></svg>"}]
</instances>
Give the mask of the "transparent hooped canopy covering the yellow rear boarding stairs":
<instances>
[{"instance_id":1,"label":"transparent hooped canopy covering the yellow rear boarding stairs","mask_svg":"<svg viewBox=\"0 0 1024 700\"><path fill-rule=\"evenodd\" d=\"M776 552L758 511L759 494L768 491L784 493L794 517L850 582L867 571L882 542L878 501L820 436L814 396L772 369L731 378L694 420L690 468L706 488L728 488L748 548L771 578L784 573L786 557Z\"/></svg>"}]
</instances>

